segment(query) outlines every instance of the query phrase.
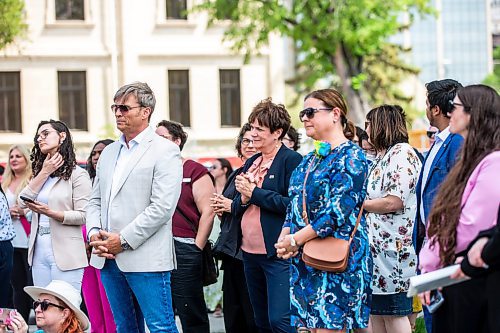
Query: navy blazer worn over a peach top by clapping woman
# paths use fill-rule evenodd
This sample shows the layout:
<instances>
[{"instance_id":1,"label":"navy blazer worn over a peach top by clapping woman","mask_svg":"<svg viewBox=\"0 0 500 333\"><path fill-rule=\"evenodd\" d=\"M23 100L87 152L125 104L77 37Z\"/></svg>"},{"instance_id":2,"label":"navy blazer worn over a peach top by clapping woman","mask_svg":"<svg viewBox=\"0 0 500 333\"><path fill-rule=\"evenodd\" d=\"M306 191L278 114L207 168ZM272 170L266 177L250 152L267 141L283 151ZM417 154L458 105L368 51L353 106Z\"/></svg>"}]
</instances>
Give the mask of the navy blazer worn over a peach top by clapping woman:
<instances>
[{"instance_id":1,"label":"navy blazer worn over a peach top by clapping woman","mask_svg":"<svg viewBox=\"0 0 500 333\"><path fill-rule=\"evenodd\" d=\"M242 172L252 166L253 162L262 156L255 154L248 159L243 166ZM274 158L267 175L264 177L262 188L253 190L249 204L260 207L260 224L264 234L267 257L276 254L274 244L278 240L286 217L286 209L290 203L288 198L288 184L292 172L302 161L302 156L282 145ZM233 201L233 211L241 219L248 205L241 204L241 194L238 193Z\"/></svg>"}]
</instances>

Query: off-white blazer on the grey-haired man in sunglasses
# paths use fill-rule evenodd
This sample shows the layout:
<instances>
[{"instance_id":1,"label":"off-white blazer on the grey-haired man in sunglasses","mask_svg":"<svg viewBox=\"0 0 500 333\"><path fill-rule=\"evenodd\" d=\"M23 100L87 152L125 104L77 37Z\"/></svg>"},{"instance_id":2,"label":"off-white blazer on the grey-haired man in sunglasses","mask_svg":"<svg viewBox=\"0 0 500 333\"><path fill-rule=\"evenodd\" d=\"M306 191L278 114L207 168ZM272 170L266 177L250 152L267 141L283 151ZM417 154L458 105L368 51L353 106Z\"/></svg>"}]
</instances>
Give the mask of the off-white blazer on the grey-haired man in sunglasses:
<instances>
[{"instance_id":1,"label":"off-white blazer on the grey-haired man in sunglasses","mask_svg":"<svg viewBox=\"0 0 500 333\"><path fill-rule=\"evenodd\" d=\"M113 196L113 172L122 145L114 142L104 149L87 209L87 232L99 228L120 233L132 247L116 256L122 272L161 272L176 267L172 215L181 192L180 151L151 127L145 131ZM90 260L99 269L104 262L94 254Z\"/></svg>"}]
</instances>

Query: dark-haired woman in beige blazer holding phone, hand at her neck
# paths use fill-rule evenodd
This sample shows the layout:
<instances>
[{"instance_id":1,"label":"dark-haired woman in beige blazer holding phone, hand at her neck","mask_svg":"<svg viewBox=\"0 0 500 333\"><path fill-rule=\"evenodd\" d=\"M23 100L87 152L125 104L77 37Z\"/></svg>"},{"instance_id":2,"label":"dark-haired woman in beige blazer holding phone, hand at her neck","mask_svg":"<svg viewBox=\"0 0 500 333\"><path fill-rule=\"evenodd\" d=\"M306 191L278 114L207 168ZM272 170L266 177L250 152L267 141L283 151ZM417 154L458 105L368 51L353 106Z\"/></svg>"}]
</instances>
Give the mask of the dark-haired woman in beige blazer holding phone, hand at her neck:
<instances>
[{"instance_id":1,"label":"dark-haired woman in beige blazer holding phone, hand at her neck","mask_svg":"<svg viewBox=\"0 0 500 333\"><path fill-rule=\"evenodd\" d=\"M28 249L33 284L45 287L63 280L80 290L88 265L81 226L91 182L76 165L71 133L63 122L38 124L31 161L33 179L19 203L33 212Z\"/></svg>"}]
</instances>

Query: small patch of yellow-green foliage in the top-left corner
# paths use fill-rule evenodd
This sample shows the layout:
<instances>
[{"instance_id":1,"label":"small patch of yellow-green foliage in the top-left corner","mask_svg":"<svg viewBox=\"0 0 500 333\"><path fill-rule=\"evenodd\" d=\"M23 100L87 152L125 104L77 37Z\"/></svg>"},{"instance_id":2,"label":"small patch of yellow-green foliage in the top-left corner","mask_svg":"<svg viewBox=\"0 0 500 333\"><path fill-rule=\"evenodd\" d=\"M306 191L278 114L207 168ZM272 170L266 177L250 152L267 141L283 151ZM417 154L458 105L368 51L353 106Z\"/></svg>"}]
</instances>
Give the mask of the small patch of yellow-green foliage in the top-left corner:
<instances>
[{"instance_id":1,"label":"small patch of yellow-green foliage in the top-left corner","mask_svg":"<svg viewBox=\"0 0 500 333\"><path fill-rule=\"evenodd\" d=\"M23 0L0 0L0 49L26 33Z\"/></svg>"}]
</instances>

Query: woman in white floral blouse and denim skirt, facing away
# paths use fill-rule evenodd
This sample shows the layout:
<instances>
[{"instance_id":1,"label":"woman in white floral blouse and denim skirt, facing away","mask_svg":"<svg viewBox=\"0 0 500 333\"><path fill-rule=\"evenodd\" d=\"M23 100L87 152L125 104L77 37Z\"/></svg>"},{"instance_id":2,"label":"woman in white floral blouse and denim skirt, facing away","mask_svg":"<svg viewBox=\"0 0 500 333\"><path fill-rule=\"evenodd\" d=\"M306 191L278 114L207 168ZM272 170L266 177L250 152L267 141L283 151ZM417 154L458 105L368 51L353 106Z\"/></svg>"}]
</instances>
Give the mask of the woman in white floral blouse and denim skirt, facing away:
<instances>
[{"instance_id":1,"label":"woman in white floral blouse and denim skirt, facing away","mask_svg":"<svg viewBox=\"0 0 500 333\"><path fill-rule=\"evenodd\" d=\"M369 141L377 152L365 201L373 255L371 325L374 332L410 333L407 315L412 313L412 299L406 292L417 267L412 231L422 165L408 144L400 106L382 105L366 120Z\"/></svg>"}]
</instances>

